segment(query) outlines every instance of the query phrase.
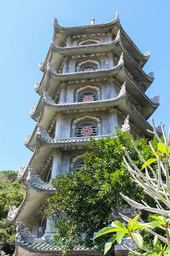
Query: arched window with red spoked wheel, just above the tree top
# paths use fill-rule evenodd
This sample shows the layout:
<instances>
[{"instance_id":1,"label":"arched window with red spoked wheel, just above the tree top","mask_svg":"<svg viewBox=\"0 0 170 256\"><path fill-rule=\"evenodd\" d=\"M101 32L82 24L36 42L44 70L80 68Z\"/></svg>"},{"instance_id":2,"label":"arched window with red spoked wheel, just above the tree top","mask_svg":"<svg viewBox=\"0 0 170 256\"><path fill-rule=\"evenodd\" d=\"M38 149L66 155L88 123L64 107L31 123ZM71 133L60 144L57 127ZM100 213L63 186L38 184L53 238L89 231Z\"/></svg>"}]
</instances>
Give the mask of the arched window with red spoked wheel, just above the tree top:
<instances>
[{"instance_id":1,"label":"arched window with red spoked wheel, just above the tree top","mask_svg":"<svg viewBox=\"0 0 170 256\"><path fill-rule=\"evenodd\" d=\"M76 126L75 137L96 136L98 135L98 127L96 122L84 120Z\"/></svg>"}]
</instances>

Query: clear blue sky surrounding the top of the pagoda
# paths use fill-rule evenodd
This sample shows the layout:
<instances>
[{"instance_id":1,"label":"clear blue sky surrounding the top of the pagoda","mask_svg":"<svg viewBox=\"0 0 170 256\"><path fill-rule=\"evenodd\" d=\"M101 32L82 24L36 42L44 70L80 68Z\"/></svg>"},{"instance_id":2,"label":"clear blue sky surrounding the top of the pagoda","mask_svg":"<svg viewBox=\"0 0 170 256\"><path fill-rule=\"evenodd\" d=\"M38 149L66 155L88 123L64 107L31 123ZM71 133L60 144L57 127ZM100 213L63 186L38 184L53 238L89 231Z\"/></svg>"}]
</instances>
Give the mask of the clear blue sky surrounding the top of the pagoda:
<instances>
[{"instance_id":1,"label":"clear blue sky surrounding the top of the pagoda","mask_svg":"<svg viewBox=\"0 0 170 256\"><path fill-rule=\"evenodd\" d=\"M0 8L0 170L17 170L27 166L32 152L23 144L24 134L31 134L35 121L29 117L30 106L37 105L34 82L42 72L53 36L53 17L61 26L90 24L113 20L119 9L120 22L150 60L144 71L155 72L155 81L147 90L152 98L160 95L160 107L153 114L156 125L169 126L169 0L17 0L1 1ZM150 120L149 120L150 121Z\"/></svg>"}]
</instances>

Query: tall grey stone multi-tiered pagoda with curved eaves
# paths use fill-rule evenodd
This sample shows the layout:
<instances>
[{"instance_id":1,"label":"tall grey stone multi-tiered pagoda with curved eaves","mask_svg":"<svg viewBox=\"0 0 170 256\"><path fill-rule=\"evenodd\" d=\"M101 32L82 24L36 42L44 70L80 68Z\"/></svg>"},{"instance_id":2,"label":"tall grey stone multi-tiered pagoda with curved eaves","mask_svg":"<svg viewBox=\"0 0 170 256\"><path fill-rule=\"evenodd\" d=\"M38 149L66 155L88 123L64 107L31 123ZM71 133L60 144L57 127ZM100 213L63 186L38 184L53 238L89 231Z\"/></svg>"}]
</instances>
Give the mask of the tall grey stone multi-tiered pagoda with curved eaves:
<instances>
[{"instance_id":1,"label":"tall grey stone multi-tiered pagoda with curved eaves","mask_svg":"<svg viewBox=\"0 0 170 256\"><path fill-rule=\"evenodd\" d=\"M47 182L83 166L90 136L114 136L117 126L135 140L150 138L147 119L159 97L145 94L154 80L152 72L142 69L149 55L122 29L118 12L111 22L95 24L92 18L91 25L75 27L59 26L54 18L54 37L39 64L42 80L34 87L40 95L30 111L36 126L24 142L33 156L18 174L26 197L8 213L8 220L17 224L14 255L61 255L60 248L50 245L51 220L40 214L44 198L54 191ZM97 254L84 247L70 252L77 253Z\"/></svg>"}]
</instances>

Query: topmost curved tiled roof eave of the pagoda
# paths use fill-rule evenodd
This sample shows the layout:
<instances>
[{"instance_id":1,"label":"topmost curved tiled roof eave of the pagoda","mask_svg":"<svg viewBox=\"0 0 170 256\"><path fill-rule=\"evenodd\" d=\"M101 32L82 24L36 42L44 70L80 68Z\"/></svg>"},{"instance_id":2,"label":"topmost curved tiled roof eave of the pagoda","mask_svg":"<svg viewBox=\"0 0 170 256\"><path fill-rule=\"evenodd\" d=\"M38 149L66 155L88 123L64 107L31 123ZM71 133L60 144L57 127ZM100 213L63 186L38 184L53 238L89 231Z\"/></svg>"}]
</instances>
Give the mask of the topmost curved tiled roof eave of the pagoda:
<instances>
[{"instance_id":1,"label":"topmost curved tiled roof eave of the pagoda","mask_svg":"<svg viewBox=\"0 0 170 256\"><path fill-rule=\"evenodd\" d=\"M125 41L126 49L128 50L128 52L130 52L130 54L139 63L141 67L144 66L144 64L147 62L149 57L142 54L139 48L136 47L136 45L133 43L130 37L126 34L125 30L122 28L120 24L119 17L117 17L116 19L108 23L75 26L75 27L62 27L54 23L54 36L56 37L56 40L57 40L57 34L65 35L65 37L68 35L83 35L83 34L89 34L89 33L96 34L96 33L101 33L101 28L103 28L102 32L106 32L106 33L112 32L115 36L118 30L120 29L121 34L123 35L123 41Z\"/></svg>"}]
</instances>

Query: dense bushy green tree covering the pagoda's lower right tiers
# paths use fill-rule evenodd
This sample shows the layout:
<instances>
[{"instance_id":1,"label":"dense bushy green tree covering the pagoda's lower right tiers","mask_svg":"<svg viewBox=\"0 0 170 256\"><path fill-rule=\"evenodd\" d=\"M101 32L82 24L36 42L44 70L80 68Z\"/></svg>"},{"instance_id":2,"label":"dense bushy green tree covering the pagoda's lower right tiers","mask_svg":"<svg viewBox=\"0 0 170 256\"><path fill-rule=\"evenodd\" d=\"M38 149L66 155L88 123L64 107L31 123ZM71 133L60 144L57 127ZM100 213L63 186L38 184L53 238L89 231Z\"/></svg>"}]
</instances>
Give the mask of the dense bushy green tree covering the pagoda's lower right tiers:
<instances>
[{"instance_id":1,"label":"dense bushy green tree covering the pagoda's lower right tiers","mask_svg":"<svg viewBox=\"0 0 170 256\"><path fill-rule=\"evenodd\" d=\"M129 172L122 166L125 156L122 146L126 146L134 163L142 168L131 139L129 133L122 131L117 131L112 138L91 138L84 157L85 167L75 174L65 172L52 182L56 191L45 201L50 207L45 208L44 216L67 214L57 222L53 242L62 246L64 253L78 245L103 249L111 236L94 241L94 232L111 223L111 207L117 208L117 200L121 200L119 193L133 194L140 200L145 197L144 192L136 190ZM136 141L136 146L144 157L152 156L147 140Z\"/></svg>"}]
</instances>

